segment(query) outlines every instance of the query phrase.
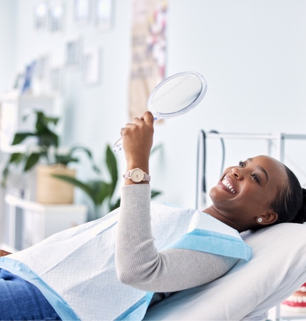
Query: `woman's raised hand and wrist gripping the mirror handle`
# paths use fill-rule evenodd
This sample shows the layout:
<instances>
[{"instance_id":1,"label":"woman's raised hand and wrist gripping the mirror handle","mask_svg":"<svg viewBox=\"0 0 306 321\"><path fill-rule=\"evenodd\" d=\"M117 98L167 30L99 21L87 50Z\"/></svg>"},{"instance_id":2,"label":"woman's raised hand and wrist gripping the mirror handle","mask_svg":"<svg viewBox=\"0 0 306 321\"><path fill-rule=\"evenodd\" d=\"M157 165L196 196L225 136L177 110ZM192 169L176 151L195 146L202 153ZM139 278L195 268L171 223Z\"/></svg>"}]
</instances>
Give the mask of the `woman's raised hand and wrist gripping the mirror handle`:
<instances>
[{"instance_id":1,"label":"woman's raised hand and wrist gripping the mirror handle","mask_svg":"<svg viewBox=\"0 0 306 321\"><path fill-rule=\"evenodd\" d=\"M127 171L138 167L148 174L153 144L153 123L153 115L145 112L140 118L134 118L132 124L128 123L121 129ZM125 181L131 182L131 179Z\"/></svg>"}]
</instances>

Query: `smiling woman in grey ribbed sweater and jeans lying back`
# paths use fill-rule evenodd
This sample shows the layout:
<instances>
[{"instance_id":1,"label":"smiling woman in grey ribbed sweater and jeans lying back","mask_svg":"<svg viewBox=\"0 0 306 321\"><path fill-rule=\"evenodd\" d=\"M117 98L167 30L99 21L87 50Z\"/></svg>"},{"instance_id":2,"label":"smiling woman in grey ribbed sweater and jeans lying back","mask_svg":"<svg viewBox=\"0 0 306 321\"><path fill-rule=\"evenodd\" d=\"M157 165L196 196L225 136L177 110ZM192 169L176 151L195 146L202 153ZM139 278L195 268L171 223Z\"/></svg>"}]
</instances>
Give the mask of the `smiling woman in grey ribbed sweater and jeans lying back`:
<instances>
[{"instance_id":1,"label":"smiling woman in grey ribbed sweater and jeans lying back","mask_svg":"<svg viewBox=\"0 0 306 321\"><path fill-rule=\"evenodd\" d=\"M153 123L153 116L146 112L121 130L127 178L122 188L115 253L118 279L155 292L150 304L173 291L219 278L238 261L194 250L156 250L150 227L149 177L140 182L137 175L130 177L130 171L136 168L149 173ZM239 232L305 221L305 190L287 167L271 157L257 156L227 168L210 197L213 205L204 211ZM60 319L38 288L3 269L0 289L2 319Z\"/></svg>"}]
</instances>

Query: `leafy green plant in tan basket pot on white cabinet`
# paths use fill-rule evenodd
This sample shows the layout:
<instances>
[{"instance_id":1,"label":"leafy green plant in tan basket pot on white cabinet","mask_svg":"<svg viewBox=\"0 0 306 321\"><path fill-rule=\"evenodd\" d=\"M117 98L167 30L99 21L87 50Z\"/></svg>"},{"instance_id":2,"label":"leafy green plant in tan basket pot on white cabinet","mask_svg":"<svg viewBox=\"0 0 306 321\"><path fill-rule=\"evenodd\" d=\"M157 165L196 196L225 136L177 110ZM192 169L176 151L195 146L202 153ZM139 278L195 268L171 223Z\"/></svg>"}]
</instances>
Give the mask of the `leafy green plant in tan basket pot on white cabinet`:
<instances>
[{"instance_id":1,"label":"leafy green plant in tan basket pot on white cabinet","mask_svg":"<svg viewBox=\"0 0 306 321\"><path fill-rule=\"evenodd\" d=\"M77 150L84 151L91 160L93 169L96 172L99 170L94 165L92 154L87 148L75 146L64 154L60 153L58 148L59 137L55 132L59 118L47 117L41 111L34 111L34 113L37 116L35 131L17 132L12 145L20 144L29 137L36 137L37 144L35 147L28 148L24 153L11 154L3 171L2 185L5 186L6 184L11 165L22 166L24 172L28 172L36 166L36 201L44 204L73 203L73 187L52 175L75 176L75 170L69 169L67 165L71 162L79 162L79 158L74 155ZM26 117L23 119L25 120Z\"/></svg>"}]
</instances>

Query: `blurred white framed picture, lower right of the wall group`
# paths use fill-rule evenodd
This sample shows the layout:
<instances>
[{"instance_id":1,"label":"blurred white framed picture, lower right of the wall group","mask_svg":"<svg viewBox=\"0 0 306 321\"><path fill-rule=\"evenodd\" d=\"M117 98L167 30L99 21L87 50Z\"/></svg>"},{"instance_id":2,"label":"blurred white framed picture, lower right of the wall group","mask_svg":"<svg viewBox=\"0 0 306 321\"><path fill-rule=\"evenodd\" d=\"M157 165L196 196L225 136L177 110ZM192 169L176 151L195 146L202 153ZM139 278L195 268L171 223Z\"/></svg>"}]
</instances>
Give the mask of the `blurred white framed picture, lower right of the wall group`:
<instances>
[{"instance_id":1,"label":"blurred white framed picture, lower right of the wall group","mask_svg":"<svg viewBox=\"0 0 306 321\"><path fill-rule=\"evenodd\" d=\"M96 84L99 81L99 48L88 48L83 54L83 81Z\"/></svg>"}]
</instances>

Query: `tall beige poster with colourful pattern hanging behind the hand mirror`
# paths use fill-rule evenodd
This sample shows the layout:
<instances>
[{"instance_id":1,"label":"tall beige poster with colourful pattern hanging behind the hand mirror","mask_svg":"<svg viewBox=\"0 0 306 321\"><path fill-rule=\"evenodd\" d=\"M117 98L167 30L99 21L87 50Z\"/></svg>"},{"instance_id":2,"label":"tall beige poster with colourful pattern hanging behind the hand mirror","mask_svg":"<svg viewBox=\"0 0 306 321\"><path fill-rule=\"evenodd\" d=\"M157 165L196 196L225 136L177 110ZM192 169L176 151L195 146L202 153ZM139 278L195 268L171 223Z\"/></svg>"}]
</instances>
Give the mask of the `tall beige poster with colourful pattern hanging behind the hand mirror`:
<instances>
[{"instance_id":1,"label":"tall beige poster with colourful pattern hanging behind the hand mirror","mask_svg":"<svg viewBox=\"0 0 306 321\"><path fill-rule=\"evenodd\" d=\"M131 120L147 111L150 92L165 77L167 6L166 0L133 0Z\"/></svg>"}]
</instances>

